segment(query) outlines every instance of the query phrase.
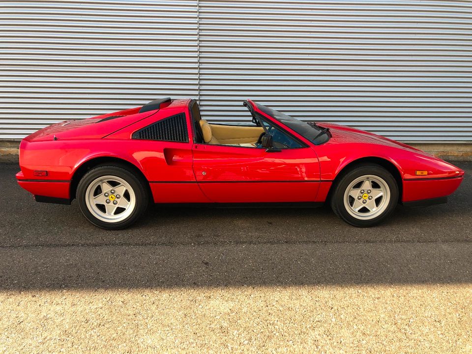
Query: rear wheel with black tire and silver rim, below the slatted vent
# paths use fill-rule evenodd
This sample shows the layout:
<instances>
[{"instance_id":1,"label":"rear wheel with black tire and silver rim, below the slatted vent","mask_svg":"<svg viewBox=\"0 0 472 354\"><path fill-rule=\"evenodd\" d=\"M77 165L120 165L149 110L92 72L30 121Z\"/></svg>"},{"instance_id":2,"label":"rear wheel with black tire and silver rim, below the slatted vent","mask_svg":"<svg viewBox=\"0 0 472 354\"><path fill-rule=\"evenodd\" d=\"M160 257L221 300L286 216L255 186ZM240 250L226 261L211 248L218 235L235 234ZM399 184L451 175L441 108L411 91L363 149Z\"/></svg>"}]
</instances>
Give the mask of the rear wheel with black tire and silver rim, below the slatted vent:
<instances>
[{"instance_id":1,"label":"rear wheel with black tire and silver rim, below the slatted vent","mask_svg":"<svg viewBox=\"0 0 472 354\"><path fill-rule=\"evenodd\" d=\"M133 224L146 211L148 192L133 171L118 166L98 166L79 182L77 200L94 225L118 230Z\"/></svg>"}]
</instances>

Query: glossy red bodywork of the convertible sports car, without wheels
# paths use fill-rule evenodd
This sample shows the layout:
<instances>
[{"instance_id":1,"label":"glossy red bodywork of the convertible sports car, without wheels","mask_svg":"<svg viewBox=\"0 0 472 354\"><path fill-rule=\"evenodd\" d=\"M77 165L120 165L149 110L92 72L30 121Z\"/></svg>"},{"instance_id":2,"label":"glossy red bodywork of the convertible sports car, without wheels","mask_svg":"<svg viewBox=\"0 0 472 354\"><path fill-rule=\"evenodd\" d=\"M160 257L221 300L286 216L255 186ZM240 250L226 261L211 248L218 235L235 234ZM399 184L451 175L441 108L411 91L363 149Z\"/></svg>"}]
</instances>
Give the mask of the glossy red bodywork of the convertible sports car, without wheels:
<instances>
[{"instance_id":1,"label":"glossy red bodywork of the convertible sports car, without wheels","mask_svg":"<svg viewBox=\"0 0 472 354\"><path fill-rule=\"evenodd\" d=\"M272 153L196 143L192 102L176 99L144 113L138 107L41 129L21 142L18 183L37 201L70 204L91 166L121 161L142 173L155 203L316 203L326 200L343 169L369 161L397 179L399 202L414 205L444 202L463 180L464 171L437 157L346 126L317 123L329 128L331 138L314 145L251 100L250 108L306 147ZM186 117L188 142L132 139L134 132L176 114Z\"/></svg>"}]
</instances>

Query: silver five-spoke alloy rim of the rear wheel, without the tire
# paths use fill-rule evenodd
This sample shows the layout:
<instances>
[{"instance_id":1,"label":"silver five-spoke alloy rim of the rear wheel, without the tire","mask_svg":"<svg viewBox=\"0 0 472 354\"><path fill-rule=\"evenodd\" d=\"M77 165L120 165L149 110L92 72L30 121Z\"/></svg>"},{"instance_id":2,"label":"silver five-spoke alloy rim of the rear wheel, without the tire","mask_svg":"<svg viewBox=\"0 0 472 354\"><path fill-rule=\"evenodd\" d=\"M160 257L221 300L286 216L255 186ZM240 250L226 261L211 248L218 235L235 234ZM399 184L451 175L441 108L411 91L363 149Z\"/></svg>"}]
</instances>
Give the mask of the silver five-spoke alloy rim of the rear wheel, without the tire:
<instances>
[{"instance_id":1,"label":"silver five-spoke alloy rim of the rear wheel, without the tire","mask_svg":"<svg viewBox=\"0 0 472 354\"><path fill-rule=\"evenodd\" d=\"M93 216L109 223L126 219L136 207L133 188L116 176L94 179L87 187L85 201Z\"/></svg>"}]
</instances>

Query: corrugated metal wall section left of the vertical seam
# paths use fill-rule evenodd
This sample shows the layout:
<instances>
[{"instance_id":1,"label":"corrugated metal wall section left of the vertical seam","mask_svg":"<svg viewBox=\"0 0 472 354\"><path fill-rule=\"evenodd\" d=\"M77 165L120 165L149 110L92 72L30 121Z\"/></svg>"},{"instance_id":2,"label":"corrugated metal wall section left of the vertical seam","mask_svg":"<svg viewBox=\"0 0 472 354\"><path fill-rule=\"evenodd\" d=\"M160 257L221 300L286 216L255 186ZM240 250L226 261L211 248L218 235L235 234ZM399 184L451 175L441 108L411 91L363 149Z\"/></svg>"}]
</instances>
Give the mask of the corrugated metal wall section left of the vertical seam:
<instances>
[{"instance_id":1,"label":"corrugated metal wall section left of the vertical seam","mask_svg":"<svg viewBox=\"0 0 472 354\"><path fill-rule=\"evenodd\" d=\"M0 139L197 83L196 1L0 1Z\"/></svg>"}]
</instances>

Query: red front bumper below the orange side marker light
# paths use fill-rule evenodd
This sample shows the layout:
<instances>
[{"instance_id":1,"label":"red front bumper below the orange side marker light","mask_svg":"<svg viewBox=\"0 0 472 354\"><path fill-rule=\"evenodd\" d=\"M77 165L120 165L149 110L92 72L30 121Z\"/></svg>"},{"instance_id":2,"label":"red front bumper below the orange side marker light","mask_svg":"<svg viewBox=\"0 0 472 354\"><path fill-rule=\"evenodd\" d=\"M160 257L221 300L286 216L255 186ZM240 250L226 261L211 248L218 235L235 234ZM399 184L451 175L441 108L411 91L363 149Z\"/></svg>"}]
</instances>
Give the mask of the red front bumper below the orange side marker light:
<instances>
[{"instance_id":1,"label":"red front bumper below the orange side marker light","mask_svg":"<svg viewBox=\"0 0 472 354\"><path fill-rule=\"evenodd\" d=\"M427 203L426 200L441 200L441 198L454 193L463 180L464 176L453 178L405 179L403 180L402 202L406 205L410 202L417 203L425 201L425 203ZM429 205L431 205L431 203Z\"/></svg>"}]
</instances>

